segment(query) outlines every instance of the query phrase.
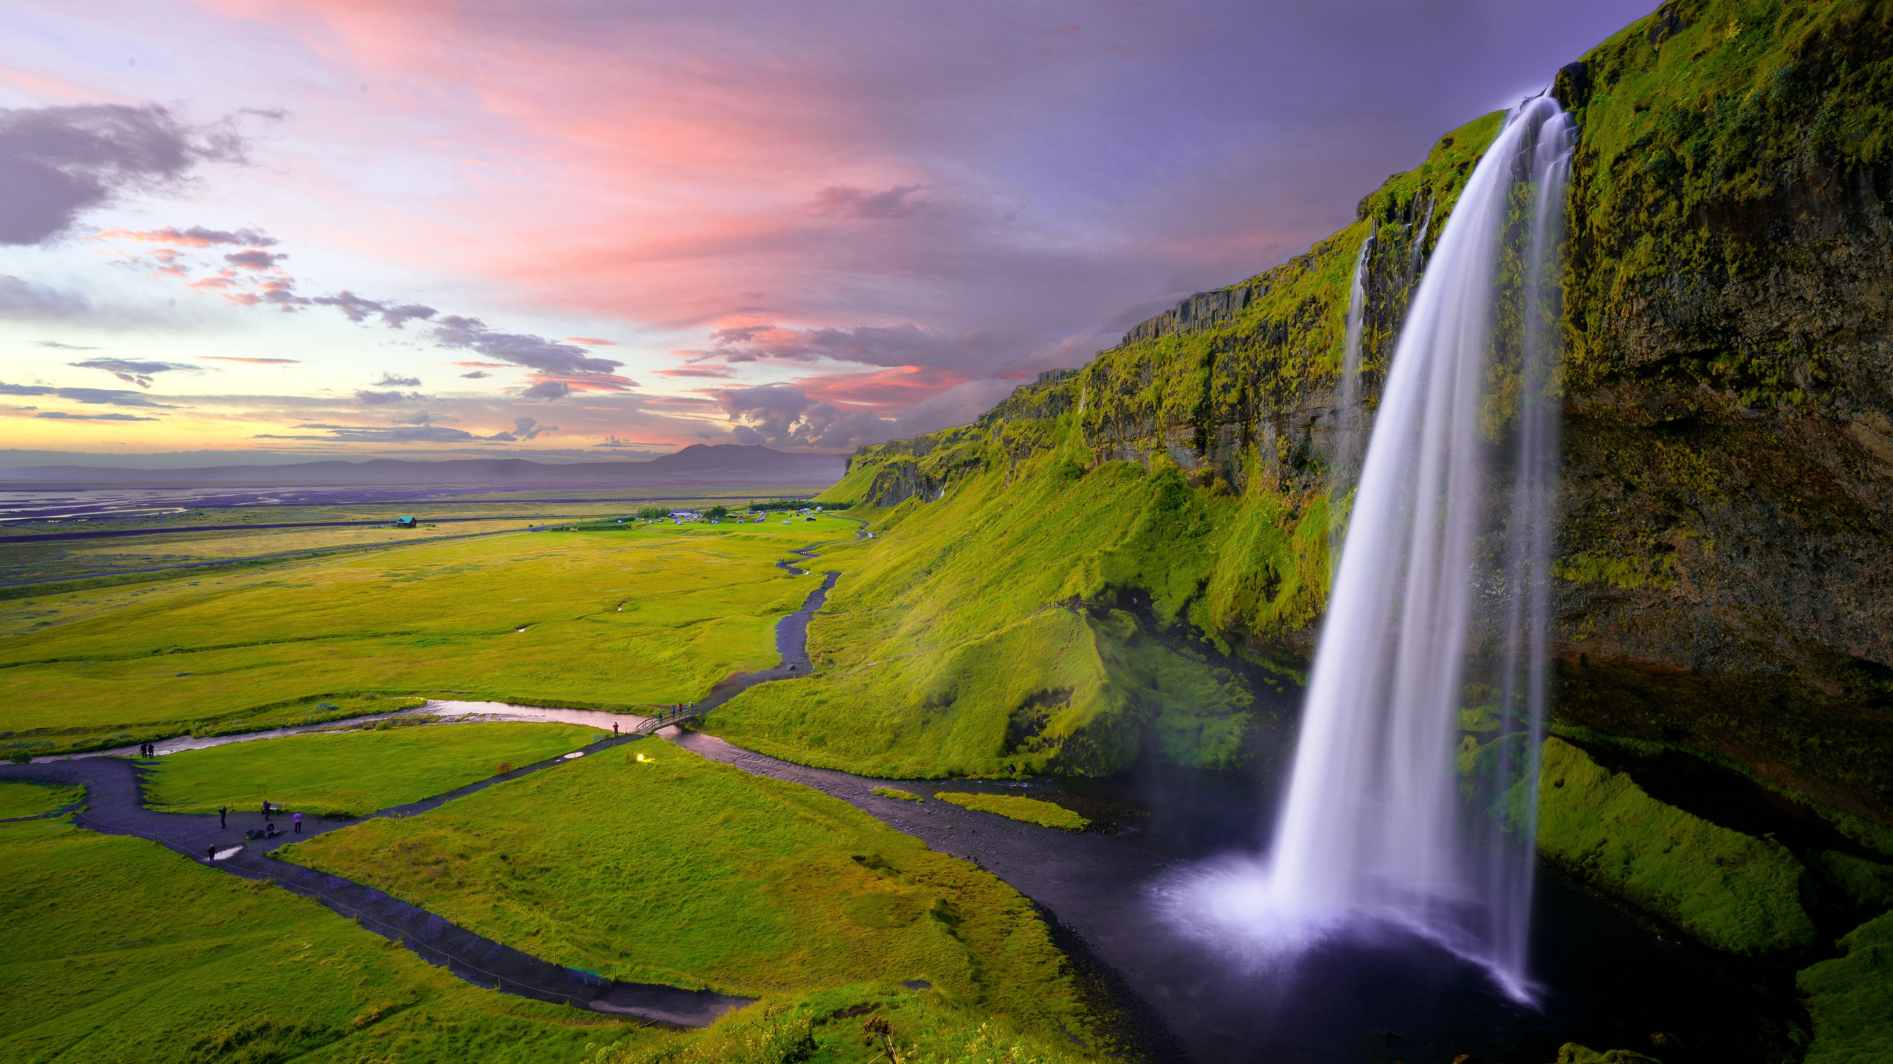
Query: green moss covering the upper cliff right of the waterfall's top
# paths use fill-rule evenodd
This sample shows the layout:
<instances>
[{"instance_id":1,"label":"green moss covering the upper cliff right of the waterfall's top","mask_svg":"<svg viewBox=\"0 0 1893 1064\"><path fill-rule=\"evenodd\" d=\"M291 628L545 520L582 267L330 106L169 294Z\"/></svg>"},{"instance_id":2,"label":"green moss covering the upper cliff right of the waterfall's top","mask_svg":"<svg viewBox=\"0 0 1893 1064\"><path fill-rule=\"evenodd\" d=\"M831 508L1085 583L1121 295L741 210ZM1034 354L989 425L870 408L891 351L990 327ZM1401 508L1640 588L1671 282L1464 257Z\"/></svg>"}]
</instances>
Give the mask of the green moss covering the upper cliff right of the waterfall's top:
<instances>
[{"instance_id":1,"label":"green moss covering the upper cliff right of the waterfall's top","mask_svg":"<svg viewBox=\"0 0 1893 1064\"><path fill-rule=\"evenodd\" d=\"M1583 252L1566 280L1573 384L1656 369L1751 407L1800 405L1810 388L1834 386L1819 346L1798 343L1696 345L1634 367L1613 318L1766 276L1774 229L1745 220L1827 174L1893 157L1889 32L1885 4L1670 0L1584 55L1592 91L1573 100L1584 133L1571 199Z\"/></svg>"}]
</instances>

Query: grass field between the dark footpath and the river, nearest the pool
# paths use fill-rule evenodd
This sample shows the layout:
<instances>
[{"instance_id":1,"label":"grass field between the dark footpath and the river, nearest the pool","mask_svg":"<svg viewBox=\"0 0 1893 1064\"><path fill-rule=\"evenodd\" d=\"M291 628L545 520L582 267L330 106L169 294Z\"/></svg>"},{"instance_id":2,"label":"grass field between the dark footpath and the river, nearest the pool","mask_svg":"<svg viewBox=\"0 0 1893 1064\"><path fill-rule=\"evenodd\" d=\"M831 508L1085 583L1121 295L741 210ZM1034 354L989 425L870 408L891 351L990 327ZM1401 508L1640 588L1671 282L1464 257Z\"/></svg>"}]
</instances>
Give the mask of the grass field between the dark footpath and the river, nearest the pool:
<instances>
[{"instance_id":1,"label":"grass field between the dark footpath and the river, nearest the pool","mask_svg":"<svg viewBox=\"0 0 1893 1064\"><path fill-rule=\"evenodd\" d=\"M1088 1019L1030 903L814 789L659 742L280 850L557 964L795 996L924 979L1039 1032Z\"/></svg>"}]
</instances>

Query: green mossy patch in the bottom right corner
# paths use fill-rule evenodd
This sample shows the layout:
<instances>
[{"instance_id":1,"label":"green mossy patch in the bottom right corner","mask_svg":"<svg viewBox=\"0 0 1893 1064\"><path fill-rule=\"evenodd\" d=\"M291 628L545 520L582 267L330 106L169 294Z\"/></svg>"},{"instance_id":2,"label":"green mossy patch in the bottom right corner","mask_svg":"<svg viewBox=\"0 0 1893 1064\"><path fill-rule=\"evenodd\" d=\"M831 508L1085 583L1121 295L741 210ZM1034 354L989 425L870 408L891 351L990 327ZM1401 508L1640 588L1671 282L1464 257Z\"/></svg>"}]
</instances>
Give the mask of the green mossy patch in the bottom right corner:
<instances>
[{"instance_id":1,"label":"green mossy patch in the bottom right corner","mask_svg":"<svg viewBox=\"0 0 1893 1064\"><path fill-rule=\"evenodd\" d=\"M1893 913L1848 931L1840 949L1795 977L1813 1019L1804 1064L1893 1060Z\"/></svg>"}]
</instances>

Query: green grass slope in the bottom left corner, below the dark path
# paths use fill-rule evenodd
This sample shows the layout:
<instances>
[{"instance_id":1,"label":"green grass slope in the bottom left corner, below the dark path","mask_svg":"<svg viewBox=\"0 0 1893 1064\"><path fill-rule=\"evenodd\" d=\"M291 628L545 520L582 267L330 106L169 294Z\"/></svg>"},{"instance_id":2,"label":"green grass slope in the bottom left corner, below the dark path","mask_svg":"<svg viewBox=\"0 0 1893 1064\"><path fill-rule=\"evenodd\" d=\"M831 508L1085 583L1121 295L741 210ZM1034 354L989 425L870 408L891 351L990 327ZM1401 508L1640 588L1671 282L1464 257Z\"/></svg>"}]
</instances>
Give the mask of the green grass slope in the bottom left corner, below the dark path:
<instances>
[{"instance_id":1,"label":"green grass slope in the bottom left corner, below the dark path","mask_svg":"<svg viewBox=\"0 0 1893 1064\"><path fill-rule=\"evenodd\" d=\"M140 839L0 824L0 1060L526 1064L657 1037L481 990Z\"/></svg>"}]
</instances>

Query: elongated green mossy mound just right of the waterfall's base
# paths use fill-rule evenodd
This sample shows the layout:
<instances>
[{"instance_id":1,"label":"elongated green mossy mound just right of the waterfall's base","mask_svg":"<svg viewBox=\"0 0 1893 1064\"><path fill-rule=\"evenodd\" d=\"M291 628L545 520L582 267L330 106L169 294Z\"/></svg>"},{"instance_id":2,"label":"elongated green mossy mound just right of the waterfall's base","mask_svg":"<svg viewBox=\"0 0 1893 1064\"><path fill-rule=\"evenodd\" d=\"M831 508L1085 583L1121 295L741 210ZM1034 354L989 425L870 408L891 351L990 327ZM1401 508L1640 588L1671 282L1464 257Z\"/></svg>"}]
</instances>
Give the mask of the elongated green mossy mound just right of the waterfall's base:
<instances>
[{"instance_id":1,"label":"elongated green mossy mound just right of the waterfall's base","mask_svg":"<svg viewBox=\"0 0 1893 1064\"><path fill-rule=\"evenodd\" d=\"M1762 954L1813 941L1804 869L1787 848L1654 801L1560 738L1545 740L1537 839L1558 865L1715 949Z\"/></svg>"}]
</instances>

